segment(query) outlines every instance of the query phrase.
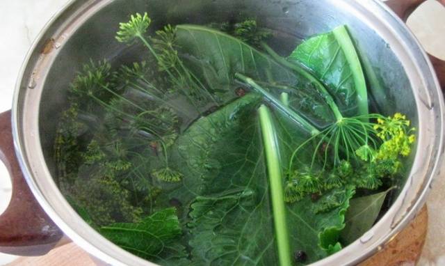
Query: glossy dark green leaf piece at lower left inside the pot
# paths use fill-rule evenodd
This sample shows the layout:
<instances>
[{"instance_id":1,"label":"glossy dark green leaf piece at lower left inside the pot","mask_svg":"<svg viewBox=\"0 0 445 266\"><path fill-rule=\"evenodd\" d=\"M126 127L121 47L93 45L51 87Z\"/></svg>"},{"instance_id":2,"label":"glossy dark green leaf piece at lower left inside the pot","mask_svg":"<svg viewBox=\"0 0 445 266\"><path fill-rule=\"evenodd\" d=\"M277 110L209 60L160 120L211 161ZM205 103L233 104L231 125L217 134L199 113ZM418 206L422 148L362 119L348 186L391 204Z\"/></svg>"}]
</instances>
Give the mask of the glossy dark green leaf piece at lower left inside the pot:
<instances>
[{"instance_id":1,"label":"glossy dark green leaf piece at lower left inside the pot","mask_svg":"<svg viewBox=\"0 0 445 266\"><path fill-rule=\"evenodd\" d=\"M159 258L165 260L163 254L168 254L170 258L186 256L184 246L175 243L182 234L175 208L155 212L136 224L102 226L100 233L122 249L142 258L156 261Z\"/></svg>"}]
</instances>

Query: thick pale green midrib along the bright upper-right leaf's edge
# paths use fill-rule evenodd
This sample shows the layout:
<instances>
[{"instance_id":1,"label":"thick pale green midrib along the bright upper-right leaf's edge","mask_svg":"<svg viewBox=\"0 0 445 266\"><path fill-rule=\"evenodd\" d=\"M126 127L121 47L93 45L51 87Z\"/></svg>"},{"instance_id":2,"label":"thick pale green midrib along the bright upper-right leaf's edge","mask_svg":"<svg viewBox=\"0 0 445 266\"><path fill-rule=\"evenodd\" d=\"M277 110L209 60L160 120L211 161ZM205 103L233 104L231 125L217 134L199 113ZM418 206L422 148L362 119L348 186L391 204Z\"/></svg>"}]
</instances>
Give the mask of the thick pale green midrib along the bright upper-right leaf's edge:
<instances>
[{"instance_id":1,"label":"thick pale green midrib along the bright upper-right leaf's edge","mask_svg":"<svg viewBox=\"0 0 445 266\"><path fill-rule=\"evenodd\" d=\"M334 33L335 39L339 42L339 45L346 56L346 61L348 61L349 68L353 72L355 89L357 90L359 114L367 115L369 114L368 91L366 89L366 81L364 79L359 56L355 50L355 45L353 44L345 26L335 28L332 33ZM367 118L362 118L362 120L368 121Z\"/></svg>"}]
</instances>

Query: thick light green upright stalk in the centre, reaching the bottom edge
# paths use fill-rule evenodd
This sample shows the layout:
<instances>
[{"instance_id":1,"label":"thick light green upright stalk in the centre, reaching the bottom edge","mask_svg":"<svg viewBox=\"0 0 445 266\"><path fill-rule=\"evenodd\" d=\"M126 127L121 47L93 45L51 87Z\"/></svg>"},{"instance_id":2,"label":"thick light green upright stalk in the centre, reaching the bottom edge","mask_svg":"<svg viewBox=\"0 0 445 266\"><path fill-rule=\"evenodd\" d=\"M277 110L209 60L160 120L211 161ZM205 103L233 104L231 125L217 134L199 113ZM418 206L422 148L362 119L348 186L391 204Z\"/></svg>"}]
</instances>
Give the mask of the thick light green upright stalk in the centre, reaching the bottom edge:
<instances>
[{"instance_id":1,"label":"thick light green upright stalk in the centre, reaching the bottom edge","mask_svg":"<svg viewBox=\"0 0 445 266\"><path fill-rule=\"evenodd\" d=\"M286 226L286 209L284 208L283 177L277 136L272 116L268 107L261 105L258 109L261 133L263 135L266 164L270 182L275 235L277 237L278 258L281 266L291 266L291 249Z\"/></svg>"}]
</instances>

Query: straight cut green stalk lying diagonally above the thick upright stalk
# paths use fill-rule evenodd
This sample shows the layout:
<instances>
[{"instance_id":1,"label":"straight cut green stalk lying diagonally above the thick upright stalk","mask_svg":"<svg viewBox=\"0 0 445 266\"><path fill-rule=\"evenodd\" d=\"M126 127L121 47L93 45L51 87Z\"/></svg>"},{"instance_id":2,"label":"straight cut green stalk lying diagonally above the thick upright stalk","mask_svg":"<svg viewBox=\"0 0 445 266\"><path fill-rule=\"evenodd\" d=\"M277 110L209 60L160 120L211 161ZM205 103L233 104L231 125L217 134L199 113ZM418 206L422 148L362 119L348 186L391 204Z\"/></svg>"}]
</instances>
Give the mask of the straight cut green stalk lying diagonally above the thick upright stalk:
<instances>
[{"instance_id":1,"label":"straight cut green stalk lying diagonally above the thick upright stalk","mask_svg":"<svg viewBox=\"0 0 445 266\"><path fill-rule=\"evenodd\" d=\"M259 86L250 77L245 77L244 75L242 75L240 73L236 73L235 77L236 77L236 79L243 81L243 83L247 84L248 86L254 88L254 90L257 91L258 93L261 93L262 95L264 95L264 97L266 97L266 99L269 102L274 104L280 110L284 111L285 114L287 114L290 118L295 120L296 123L300 124L305 130L307 130L307 132L309 132L313 136L320 133L320 131L317 130L316 127L311 125L309 122L307 122L307 120L305 118L303 118L302 116L297 114L295 111L293 111L289 107L286 107L286 105L282 104L282 102L280 102L279 100L275 99L275 97L273 97L273 95L268 93L268 91L266 91L264 88L261 88L261 86Z\"/></svg>"}]
</instances>

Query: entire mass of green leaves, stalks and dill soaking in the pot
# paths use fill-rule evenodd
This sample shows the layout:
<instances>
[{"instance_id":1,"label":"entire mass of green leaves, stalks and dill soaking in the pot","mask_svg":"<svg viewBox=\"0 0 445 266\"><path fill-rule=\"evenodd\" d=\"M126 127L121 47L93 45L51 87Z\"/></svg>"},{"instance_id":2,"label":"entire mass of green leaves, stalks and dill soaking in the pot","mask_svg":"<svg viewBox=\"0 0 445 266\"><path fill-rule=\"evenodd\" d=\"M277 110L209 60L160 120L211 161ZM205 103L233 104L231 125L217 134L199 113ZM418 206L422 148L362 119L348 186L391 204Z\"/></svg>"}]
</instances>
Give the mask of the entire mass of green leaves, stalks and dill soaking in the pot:
<instances>
[{"instance_id":1,"label":"entire mass of green leaves, stalks and dill soaking in the pot","mask_svg":"<svg viewBox=\"0 0 445 266\"><path fill-rule=\"evenodd\" d=\"M374 193L410 154L410 121L369 114L344 26L282 57L252 19L211 25L149 36L146 13L120 24L117 40L143 59L74 79L60 189L102 235L161 265L305 265L339 251L380 212L386 193Z\"/></svg>"}]
</instances>

